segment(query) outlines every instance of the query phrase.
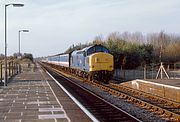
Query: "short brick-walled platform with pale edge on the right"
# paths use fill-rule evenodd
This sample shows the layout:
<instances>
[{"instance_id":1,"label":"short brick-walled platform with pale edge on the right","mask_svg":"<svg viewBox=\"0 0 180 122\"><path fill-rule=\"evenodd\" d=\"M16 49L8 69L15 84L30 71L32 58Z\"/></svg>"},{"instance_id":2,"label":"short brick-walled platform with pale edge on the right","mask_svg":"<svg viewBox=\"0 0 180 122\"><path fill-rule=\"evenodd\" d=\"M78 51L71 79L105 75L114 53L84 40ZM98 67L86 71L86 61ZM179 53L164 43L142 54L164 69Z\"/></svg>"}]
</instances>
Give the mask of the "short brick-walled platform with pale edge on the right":
<instances>
[{"instance_id":1,"label":"short brick-walled platform with pale edge on the right","mask_svg":"<svg viewBox=\"0 0 180 122\"><path fill-rule=\"evenodd\" d=\"M121 85L180 103L180 79L136 79Z\"/></svg>"}]
</instances>

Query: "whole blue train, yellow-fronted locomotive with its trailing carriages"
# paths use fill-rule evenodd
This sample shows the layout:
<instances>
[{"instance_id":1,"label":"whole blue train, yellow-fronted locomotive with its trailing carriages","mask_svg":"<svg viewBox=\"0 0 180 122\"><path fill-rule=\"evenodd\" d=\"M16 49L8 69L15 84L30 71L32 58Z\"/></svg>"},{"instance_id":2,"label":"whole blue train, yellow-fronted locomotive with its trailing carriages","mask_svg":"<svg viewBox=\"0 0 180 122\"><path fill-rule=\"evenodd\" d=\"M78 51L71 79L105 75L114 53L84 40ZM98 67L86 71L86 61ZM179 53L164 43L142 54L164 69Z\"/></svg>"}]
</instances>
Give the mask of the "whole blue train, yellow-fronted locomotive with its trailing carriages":
<instances>
[{"instance_id":1,"label":"whole blue train, yellow-fronted locomotive with its trailing carriages","mask_svg":"<svg viewBox=\"0 0 180 122\"><path fill-rule=\"evenodd\" d=\"M104 83L111 79L114 69L113 55L103 45L48 56L45 62L88 80Z\"/></svg>"}]
</instances>

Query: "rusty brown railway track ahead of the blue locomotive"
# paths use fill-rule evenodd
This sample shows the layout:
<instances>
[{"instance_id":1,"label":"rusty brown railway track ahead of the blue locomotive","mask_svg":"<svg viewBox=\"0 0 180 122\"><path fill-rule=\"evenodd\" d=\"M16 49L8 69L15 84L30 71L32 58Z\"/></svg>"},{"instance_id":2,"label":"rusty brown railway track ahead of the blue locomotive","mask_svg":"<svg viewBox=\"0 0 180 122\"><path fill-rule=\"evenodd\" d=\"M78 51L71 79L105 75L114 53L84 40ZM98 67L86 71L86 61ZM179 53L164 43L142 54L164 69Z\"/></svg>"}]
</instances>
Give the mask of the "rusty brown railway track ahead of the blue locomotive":
<instances>
[{"instance_id":1,"label":"rusty brown railway track ahead of the blue locomotive","mask_svg":"<svg viewBox=\"0 0 180 122\"><path fill-rule=\"evenodd\" d=\"M105 85L92 82L92 84L110 94L126 99L128 102L133 102L140 107L154 112L169 121L180 121L179 103L113 83Z\"/></svg>"}]
</instances>

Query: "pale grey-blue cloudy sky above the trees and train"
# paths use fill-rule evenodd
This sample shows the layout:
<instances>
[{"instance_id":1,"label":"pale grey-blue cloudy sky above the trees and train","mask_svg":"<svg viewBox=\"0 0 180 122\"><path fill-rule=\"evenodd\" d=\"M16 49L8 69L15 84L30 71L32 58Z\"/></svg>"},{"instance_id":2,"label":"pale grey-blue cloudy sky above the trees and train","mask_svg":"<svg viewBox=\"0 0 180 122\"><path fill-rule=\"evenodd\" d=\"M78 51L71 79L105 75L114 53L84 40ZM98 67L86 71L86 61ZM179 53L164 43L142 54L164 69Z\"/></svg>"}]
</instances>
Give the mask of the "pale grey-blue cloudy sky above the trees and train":
<instances>
[{"instance_id":1,"label":"pale grey-blue cloudy sky above the trees and train","mask_svg":"<svg viewBox=\"0 0 180 122\"><path fill-rule=\"evenodd\" d=\"M62 53L71 45L106 38L112 32L180 33L180 0L0 0L0 53L4 54L4 6L8 55L34 57Z\"/></svg>"}]
</instances>

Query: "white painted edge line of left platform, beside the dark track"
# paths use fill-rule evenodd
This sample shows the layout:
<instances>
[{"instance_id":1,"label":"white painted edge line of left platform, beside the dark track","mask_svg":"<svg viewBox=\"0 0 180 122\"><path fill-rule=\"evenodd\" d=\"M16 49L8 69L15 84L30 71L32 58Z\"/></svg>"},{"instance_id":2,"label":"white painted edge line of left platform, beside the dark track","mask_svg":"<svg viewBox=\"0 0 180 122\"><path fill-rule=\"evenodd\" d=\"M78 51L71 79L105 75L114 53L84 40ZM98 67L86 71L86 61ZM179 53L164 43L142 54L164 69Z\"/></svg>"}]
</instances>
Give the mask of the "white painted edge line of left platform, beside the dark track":
<instances>
[{"instance_id":1,"label":"white painted edge line of left platform, beside the dark track","mask_svg":"<svg viewBox=\"0 0 180 122\"><path fill-rule=\"evenodd\" d=\"M75 97L71 95L48 71L47 74L61 87L61 89L81 108L93 122L99 122Z\"/></svg>"}]
</instances>

